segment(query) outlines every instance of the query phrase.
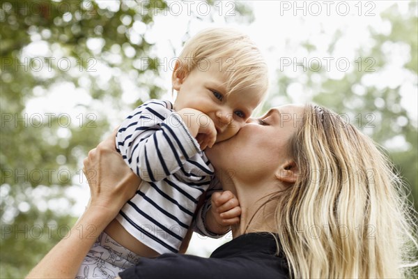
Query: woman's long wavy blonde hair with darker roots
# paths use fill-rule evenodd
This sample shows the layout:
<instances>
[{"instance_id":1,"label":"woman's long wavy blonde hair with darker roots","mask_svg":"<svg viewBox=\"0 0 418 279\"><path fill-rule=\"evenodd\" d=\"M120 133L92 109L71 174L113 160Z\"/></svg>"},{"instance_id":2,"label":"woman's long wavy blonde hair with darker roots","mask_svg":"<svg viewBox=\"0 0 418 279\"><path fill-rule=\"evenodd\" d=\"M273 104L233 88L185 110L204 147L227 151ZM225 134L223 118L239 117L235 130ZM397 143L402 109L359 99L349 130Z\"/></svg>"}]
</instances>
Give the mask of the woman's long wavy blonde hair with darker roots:
<instances>
[{"instance_id":1,"label":"woman's long wavy blonde hair with darker roots","mask_svg":"<svg viewBox=\"0 0 418 279\"><path fill-rule=\"evenodd\" d=\"M411 276L416 212L376 144L334 112L307 105L290 148L297 181L270 202L291 276Z\"/></svg>"}]
</instances>

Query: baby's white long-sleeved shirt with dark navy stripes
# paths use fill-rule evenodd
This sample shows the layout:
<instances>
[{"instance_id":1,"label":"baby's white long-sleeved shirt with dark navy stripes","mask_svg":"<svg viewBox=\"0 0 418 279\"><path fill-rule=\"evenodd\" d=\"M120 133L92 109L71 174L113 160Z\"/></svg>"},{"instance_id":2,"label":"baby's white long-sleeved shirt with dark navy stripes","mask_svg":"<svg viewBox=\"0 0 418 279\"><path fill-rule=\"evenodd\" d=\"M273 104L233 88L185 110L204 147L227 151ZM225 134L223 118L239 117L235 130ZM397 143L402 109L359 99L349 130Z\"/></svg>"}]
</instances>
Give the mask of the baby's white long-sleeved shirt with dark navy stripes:
<instances>
[{"instance_id":1,"label":"baby's white long-sleeved shirt with dark navy stripes","mask_svg":"<svg viewBox=\"0 0 418 279\"><path fill-rule=\"evenodd\" d=\"M149 100L123 121L116 149L142 179L116 219L155 251L178 252L199 197L210 186L213 167L205 153L173 105L162 100ZM198 219L208 209L208 197L206 201ZM202 220L195 230L212 236Z\"/></svg>"}]
</instances>

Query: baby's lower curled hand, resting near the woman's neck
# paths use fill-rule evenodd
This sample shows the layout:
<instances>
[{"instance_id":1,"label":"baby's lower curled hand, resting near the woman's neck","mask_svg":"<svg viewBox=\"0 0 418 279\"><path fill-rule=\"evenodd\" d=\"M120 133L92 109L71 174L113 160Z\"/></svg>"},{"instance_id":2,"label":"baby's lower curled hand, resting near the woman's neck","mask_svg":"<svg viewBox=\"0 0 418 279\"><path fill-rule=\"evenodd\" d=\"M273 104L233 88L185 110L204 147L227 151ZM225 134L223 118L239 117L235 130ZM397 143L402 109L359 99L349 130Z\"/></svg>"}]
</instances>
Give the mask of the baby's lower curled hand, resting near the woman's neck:
<instances>
[{"instance_id":1,"label":"baby's lower curled hand, resting near the woman's neck","mask_svg":"<svg viewBox=\"0 0 418 279\"><path fill-rule=\"evenodd\" d=\"M211 198L210 209L216 226L209 228L212 232L222 234L229 226L240 223L241 207L237 197L231 191L215 192Z\"/></svg>"}]
</instances>

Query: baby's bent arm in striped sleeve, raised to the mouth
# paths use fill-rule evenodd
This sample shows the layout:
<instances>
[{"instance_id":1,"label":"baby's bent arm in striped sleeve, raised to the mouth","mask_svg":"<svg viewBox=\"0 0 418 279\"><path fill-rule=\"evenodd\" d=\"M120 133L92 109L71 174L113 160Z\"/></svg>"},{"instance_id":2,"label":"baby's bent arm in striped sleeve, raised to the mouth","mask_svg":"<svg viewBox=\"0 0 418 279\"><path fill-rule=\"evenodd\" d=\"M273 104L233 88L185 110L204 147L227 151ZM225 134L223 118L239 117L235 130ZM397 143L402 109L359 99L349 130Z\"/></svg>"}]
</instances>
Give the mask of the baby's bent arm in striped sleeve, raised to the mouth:
<instances>
[{"instance_id":1,"label":"baby's bent arm in striped sleeve, raised to the mouth","mask_svg":"<svg viewBox=\"0 0 418 279\"><path fill-rule=\"evenodd\" d=\"M171 104L151 100L123 121L116 135L116 147L141 179L160 181L177 172L187 159L200 151L194 137L201 133L201 128L191 128L183 115L171 111Z\"/></svg>"}]
</instances>

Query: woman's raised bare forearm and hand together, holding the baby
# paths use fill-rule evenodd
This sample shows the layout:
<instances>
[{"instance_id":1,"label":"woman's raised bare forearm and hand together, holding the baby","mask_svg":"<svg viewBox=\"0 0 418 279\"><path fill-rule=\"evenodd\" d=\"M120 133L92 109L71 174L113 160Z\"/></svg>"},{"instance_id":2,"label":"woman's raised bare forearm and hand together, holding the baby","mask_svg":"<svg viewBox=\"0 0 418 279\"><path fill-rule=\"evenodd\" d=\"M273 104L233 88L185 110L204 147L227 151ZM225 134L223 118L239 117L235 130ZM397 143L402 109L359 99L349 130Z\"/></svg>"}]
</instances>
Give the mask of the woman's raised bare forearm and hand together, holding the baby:
<instances>
[{"instance_id":1,"label":"woman's raised bare forearm and hand together, holding the baby","mask_svg":"<svg viewBox=\"0 0 418 279\"><path fill-rule=\"evenodd\" d=\"M137 191L141 179L116 151L115 136L116 130L84 159L91 199L83 216L26 278L75 278L95 239Z\"/></svg>"}]
</instances>

